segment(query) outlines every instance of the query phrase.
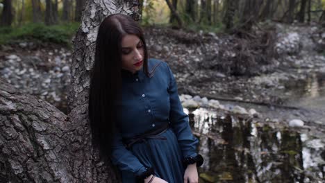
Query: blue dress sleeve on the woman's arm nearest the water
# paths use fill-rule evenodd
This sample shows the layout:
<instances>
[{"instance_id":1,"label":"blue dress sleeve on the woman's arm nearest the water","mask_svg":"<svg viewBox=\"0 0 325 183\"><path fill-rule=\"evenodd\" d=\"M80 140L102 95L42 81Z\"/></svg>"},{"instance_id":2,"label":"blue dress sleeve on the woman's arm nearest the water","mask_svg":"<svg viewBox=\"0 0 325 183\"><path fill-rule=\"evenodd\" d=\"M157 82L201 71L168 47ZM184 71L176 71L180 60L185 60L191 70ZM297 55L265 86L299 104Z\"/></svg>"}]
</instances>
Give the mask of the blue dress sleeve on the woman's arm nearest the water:
<instances>
[{"instance_id":1,"label":"blue dress sleeve on the woman's arm nearest the water","mask_svg":"<svg viewBox=\"0 0 325 183\"><path fill-rule=\"evenodd\" d=\"M167 68L169 75L169 87L167 89L170 102L169 120L178 139L178 144L181 146L183 157L195 157L197 156L199 139L192 134L188 114L183 112L183 106L179 100L176 80L168 65Z\"/></svg>"}]
</instances>

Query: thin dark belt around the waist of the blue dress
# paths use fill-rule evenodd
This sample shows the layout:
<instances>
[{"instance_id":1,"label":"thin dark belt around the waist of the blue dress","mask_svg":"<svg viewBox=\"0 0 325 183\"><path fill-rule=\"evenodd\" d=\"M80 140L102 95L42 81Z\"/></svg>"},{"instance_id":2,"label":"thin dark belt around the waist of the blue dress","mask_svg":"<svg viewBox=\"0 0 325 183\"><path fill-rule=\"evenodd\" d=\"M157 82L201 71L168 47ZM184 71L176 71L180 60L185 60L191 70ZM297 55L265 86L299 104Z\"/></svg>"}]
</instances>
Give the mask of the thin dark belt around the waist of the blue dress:
<instances>
[{"instance_id":1,"label":"thin dark belt around the waist of the blue dress","mask_svg":"<svg viewBox=\"0 0 325 183\"><path fill-rule=\"evenodd\" d=\"M163 134L163 132L166 132L166 130L169 128L169 123L165 123L164 125L154 129L154 130L149 130L147 132L144 132L144 134L140 134L135 137L131 137L129 139L124 139L124 145L126 148L130 149L134 143L138 142L146 142L147 139L160 139L160 140L167 140L166 137L161 137L159 136L160 134Z\"/></svg>"}]
</instances>

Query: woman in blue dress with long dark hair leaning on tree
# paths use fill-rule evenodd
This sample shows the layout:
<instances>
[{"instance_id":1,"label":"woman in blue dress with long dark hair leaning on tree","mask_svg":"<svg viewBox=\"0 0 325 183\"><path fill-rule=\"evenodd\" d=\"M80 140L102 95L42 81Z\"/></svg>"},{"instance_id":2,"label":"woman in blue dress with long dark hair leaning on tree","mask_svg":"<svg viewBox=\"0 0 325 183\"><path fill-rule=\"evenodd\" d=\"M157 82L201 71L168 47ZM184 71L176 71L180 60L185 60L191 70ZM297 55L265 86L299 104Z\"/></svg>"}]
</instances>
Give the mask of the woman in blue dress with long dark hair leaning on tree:
<instances>
[{"instance_id":1,"label":"woman in blue dress with long dark hair leaning on tree","mask_svg":"<svg viewBox=\"0 0 325 183\"><path fill-rule=\"evenodd\" d=\"M117 165L122 182L198 182L203 159L172 71L148 59L142 30L126 15L99 26L89 117L94 145Z\"/></svg>"}]
</instances>

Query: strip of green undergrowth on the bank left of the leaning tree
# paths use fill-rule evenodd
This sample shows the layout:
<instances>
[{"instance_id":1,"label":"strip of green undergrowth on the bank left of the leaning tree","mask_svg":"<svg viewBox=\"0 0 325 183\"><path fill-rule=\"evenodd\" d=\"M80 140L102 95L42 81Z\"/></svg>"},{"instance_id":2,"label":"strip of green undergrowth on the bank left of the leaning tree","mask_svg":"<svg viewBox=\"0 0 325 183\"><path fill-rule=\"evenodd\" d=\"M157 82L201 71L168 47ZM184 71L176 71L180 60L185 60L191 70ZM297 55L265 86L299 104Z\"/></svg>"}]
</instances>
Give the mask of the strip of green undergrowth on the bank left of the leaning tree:
<instances>
[{"instance_id":1,"label":"strip of green undergrowth on the bank left of the leaning tree","mask_svg":"<svg viewBox=\"0 0 325 183\"><path fill-rule=\"evenodd\" d=\"M0 44L10 44L26 40L52 42L69 46L80 23L58 24L46 26L45 24L26 24L19 27L1 27Z\"/></svg>"}]
</instances>

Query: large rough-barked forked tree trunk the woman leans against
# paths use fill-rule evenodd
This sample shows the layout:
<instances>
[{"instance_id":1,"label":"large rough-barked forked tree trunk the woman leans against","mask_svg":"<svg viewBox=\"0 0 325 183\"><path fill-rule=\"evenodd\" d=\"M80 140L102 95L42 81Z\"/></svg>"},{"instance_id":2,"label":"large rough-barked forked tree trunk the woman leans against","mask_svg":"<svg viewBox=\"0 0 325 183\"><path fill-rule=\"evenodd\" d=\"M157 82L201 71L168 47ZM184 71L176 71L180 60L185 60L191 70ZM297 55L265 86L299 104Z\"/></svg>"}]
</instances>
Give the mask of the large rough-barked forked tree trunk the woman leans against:
<instances>
[{"instance_id":1,"label":"large rough-barked forked tree trunk the woman leans against","mask_svg":"<svg viewBox=\"0 0 325 183\"><path fill-rule=\"evenodd\" d=\"M119 182L92 148L90 70L102 19L122 12L138 20L139 8L133 0L92 0L85 7L74 40L68 115L0 78L0 182Z\"/></svg>"}]
</instances>

